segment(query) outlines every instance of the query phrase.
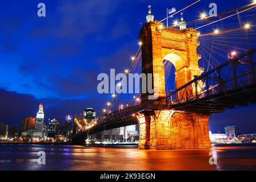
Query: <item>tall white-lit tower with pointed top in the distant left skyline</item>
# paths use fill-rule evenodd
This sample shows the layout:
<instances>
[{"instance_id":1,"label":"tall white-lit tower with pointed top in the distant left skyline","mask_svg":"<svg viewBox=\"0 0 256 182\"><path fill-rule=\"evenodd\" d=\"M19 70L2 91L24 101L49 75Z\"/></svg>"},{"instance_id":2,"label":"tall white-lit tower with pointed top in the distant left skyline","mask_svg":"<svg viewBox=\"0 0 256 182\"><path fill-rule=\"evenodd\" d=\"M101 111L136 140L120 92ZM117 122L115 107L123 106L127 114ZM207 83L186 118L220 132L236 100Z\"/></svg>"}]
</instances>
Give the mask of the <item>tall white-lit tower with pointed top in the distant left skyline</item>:
<instances>
[{"instance_id":1,"label":"tall white-lit tower with pointed top in the distant left skyline","mask_svg":"<svg viewBox=\"0 0 256 182\"><path fill-rule=\"evenodd\" d=\"M39 105L39 110L37 113L37 119L35 121L34 137L43 137L43 121L45 119L45 114L43 113L43 105Z\"/></svg>"}]
</instances>

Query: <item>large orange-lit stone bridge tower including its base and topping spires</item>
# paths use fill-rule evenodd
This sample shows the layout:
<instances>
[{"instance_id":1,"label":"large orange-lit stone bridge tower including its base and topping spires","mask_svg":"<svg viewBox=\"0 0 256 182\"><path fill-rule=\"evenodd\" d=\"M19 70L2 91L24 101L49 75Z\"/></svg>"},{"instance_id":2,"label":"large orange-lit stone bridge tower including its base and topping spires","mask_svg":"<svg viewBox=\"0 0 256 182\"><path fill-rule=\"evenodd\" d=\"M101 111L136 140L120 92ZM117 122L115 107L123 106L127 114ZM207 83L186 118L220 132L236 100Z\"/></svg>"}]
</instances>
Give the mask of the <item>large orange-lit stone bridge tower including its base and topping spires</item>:
<instances>
[{"instance_id":1,"label":"large orange-lit stone bridge tower including its base and topping spires","mask_svg":"<svg viewBox=\"0 0 256 182\"><path fill-rule=\"evenodd\" d=\"M139 34L142 42L142 73L153 74L154 95L158 95L154 104L164 106L166 89L163 60L169 60L176 69L176 88L203 72L198 65L201 59L197 54L198 32L186 28L183 17L177 29L166 28L157 20L148 20L148 16ZM197 92L193 85L187 86L187 89L189 92ZM188 90L181 90L177 99L186 99ZM141 94L142 105L150 101L150 95ZM141 111L136 115L139 123L139 149L210 148L209 117L207 113L182 113L171 109Z\"/></svg>"}]
</instances>

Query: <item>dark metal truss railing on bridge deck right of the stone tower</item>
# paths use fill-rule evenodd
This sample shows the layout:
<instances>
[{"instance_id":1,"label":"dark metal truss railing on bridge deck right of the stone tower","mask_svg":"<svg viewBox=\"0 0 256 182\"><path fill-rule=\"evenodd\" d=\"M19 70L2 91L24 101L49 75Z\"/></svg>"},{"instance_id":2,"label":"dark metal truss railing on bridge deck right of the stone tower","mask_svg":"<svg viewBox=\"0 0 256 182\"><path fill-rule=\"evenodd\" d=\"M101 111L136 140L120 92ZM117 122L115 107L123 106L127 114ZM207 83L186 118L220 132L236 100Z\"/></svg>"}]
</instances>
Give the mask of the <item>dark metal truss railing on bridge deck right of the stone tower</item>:
<instances>
[{"instance_id":1,"label":"dark metal truss railing on bridge deck right of the stone tower","mask_svg":"<svg viewBox=\"0 0 256 182\"><path fill-rule=\"evenodd\" d=\"M196 101L201 98L225 94L245 86L256 84L256 63L253 61L256 48L226 61L167 96L169 105Z\"/></svg>"}]
</instances>

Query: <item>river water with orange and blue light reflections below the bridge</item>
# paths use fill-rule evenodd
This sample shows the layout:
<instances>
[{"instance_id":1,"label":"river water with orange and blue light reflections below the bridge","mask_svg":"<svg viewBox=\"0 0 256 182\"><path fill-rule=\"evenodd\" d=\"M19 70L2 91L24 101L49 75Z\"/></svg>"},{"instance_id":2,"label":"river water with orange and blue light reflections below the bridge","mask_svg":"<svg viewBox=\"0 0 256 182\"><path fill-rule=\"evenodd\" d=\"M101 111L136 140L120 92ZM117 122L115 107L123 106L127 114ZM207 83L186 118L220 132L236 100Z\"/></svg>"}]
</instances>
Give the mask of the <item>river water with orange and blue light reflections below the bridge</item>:
<instances>
[{"instance_id":1,"label":"river water with orange and blue light reflections below the bridge","mask_svg":"<svg viewBox=\"0 0 256 182\"><path fill-rule=\"evenodd\" d=\"M0 170L256 170L256 145L214 146L211 150L138 150L54 145L0 145ZM46 165L37 164L38 151Z\"/></svg>"}]
</instances>

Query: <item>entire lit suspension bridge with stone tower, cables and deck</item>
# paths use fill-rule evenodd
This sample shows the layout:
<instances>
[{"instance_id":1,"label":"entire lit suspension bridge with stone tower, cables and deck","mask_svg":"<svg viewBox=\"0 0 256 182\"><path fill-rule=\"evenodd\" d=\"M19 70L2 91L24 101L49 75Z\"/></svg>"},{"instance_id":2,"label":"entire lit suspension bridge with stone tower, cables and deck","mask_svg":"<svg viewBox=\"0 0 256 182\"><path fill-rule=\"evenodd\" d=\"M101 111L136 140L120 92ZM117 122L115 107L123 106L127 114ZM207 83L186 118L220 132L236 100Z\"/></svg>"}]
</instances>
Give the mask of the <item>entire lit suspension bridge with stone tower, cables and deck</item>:
<instances>
[{"instance_id":1,"label":"entire lit suspension bridge with stone tower, cables and deck","mask_svg":"<svg viewBox=\"0 0 256 182\"><path fill-rule=\"evenodd\" d=\"M72 143L138 124L139 149L210 148L210 115L256 102L255 7L256 2L217 16L201 14L190 22L181 17L169 27L166 18L154 20L150 8L125 73L158 75L152 78L157 99L150 100L150 93L112 94L101 117L74 119ZM118 83L120 90L127 79Z\"/></svg>"}]
</instances>

